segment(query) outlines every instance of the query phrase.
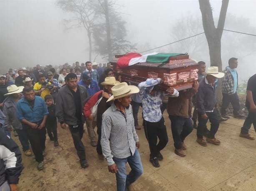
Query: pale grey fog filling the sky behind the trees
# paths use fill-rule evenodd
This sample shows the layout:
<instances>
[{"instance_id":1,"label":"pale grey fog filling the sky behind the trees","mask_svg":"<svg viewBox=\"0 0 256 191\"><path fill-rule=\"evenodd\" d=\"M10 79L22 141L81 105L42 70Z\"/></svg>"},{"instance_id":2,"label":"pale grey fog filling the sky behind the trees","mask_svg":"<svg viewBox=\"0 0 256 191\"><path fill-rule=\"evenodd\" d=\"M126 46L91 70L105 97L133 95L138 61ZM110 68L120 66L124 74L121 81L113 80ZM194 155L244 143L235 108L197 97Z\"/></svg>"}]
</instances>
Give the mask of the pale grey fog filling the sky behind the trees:
<instances>
[{"instance_id":1,"label":"pale grey fog filling the sky behind the trees","mask_svg":"<svg viewBox=\"0 0 256 191\"><path fill-rule=\"evenodd\" d=\"M210 2L213 17L218 18L221 1ZM126 39L136 43L139 52L176 41L177 35L172 31L172 27L177 21L186 20L189 15L201 22L198 0L117 0L116 3L119 5L118 12L127 22ZM224 28L256 34L255 10L255 0L230 0ZM70 15L57 7L56 1L53 0L1 0L0 73L7 72L9 68L32 67L36 64L55 66L66 62L72 65L75 61L88 61L87 33L83 28L73 27L66 30L63 19L68 17ZM243 20L241 23L233 23L234 18ZM246 28L248 25L250 30ZM198 31L203 32L200 23ZM179 29L176 32L181 33ZM183 38L186 37L188 36ZM182 49L181 43L153 51L188 52L191 58L206 61L209 66L208 45L204 34L198 37L198 43L201 49L193 52ZM249 47L248 50L245 49L246 46ZM93 58L96 54L93 53ZM256 73L256 37L224 31L223 68L228 65L230 57L238 58L237 71L240 82ZM95 61L106 62L106 59L98 56Z\"/></svg>"}]
</instances>

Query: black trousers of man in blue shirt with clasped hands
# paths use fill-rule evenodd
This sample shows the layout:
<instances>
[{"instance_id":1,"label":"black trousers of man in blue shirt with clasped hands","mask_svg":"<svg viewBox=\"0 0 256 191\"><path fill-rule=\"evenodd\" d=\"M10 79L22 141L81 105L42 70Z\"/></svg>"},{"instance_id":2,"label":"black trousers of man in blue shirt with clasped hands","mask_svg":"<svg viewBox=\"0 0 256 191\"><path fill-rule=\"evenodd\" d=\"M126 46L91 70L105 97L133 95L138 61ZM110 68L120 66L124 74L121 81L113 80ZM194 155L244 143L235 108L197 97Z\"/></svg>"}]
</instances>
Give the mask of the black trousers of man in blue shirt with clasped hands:
<instances>
[{"instance_id":1,"label":"black trousers of man in blue shirt with clasped hands","mask_svg":"<svg viewBox=\"0 0 256 191\"><path fill-rule=\"evenodd\" d=\"M32 129L27 126L28 139L35 154L37 162L43 161L43 151L45 150L46 129Z\"/></svg>"}]
</instances>

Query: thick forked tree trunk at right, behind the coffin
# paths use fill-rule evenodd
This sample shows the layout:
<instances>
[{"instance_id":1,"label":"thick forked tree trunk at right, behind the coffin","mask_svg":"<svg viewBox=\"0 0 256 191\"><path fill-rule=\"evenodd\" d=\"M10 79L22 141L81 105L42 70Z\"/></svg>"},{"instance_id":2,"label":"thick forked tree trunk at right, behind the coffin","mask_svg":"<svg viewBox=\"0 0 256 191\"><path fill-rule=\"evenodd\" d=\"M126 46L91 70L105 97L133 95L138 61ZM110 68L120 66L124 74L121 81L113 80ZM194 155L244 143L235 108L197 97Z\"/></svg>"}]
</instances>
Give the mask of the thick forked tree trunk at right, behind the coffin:
<instances>
[{"instance_id":1,"label":"thick forked tree trunk at right, behind the coffin","mask_svg":"<svg viewBox=\"0 0 256 191\"><path fill-rule=\"evenodd\" d=\"M218 70L222 71L222 61L221 61L221 37L223 32L223 27L226 19L226 12L228 9L228 1L222 0L221 12L218 20L218 27L216 28L213 21L213 13L211 9L211 4L209 0L199 0L199 6L202 14L203 29L206 35L209 54L210 54L210 64L217 64ZM221 79L218 80L217 88L217 99L218 102L222 99L221 93Z\"/></svg>"}]
</instances>

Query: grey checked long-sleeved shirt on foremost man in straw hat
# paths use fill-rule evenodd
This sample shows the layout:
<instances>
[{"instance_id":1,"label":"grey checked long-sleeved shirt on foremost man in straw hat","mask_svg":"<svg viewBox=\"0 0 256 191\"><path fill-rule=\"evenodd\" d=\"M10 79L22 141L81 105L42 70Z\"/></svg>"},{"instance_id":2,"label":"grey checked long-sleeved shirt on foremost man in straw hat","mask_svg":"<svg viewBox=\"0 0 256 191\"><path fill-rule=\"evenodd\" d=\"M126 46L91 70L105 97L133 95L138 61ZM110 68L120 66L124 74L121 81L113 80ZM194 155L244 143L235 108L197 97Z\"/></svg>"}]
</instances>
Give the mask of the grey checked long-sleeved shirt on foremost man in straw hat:
<instances>
[{"instance_id":1,"label":"grey checked long-sleeved shirt on foremost man in straw hat","mask_svg":"<svg viewBox=\"0 0 256 191\"><path fill-rule=\"evenodd\" d=\"M108 166L115 163L113 157L124 159L133 155L138 141L131 105L124 114L112 103L102 115L100 141Z\"/></svg>"}]
</instances>

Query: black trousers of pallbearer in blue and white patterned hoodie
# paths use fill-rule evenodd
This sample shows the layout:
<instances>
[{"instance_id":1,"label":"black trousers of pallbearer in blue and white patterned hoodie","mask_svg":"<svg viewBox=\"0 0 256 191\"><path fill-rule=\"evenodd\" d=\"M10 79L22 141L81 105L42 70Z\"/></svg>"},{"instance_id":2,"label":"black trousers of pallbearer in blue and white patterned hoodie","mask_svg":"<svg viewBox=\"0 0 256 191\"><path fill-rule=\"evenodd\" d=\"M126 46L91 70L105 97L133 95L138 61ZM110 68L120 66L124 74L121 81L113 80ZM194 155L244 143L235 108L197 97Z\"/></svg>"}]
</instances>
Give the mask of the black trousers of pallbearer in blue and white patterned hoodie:
<instances>
[{"instance_id":1,"label":"black trousers of pallbearer in blue and white patterned hoodie","mask_svg":"<svg viewBox=\"0 0 256 191\"><path fill-rule=\"evenodd\" d=\"M164 119L162 117L158 122L148 122L143 120L143 126L149 144L150 157L154 158L168 143L168 135ZM157 138L159 139L158 144Z\"/></svg>"}]
</instances>

